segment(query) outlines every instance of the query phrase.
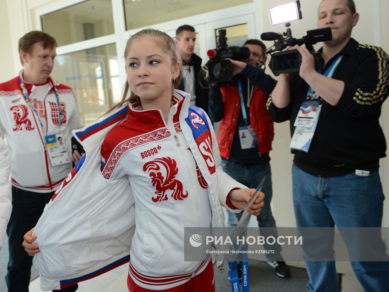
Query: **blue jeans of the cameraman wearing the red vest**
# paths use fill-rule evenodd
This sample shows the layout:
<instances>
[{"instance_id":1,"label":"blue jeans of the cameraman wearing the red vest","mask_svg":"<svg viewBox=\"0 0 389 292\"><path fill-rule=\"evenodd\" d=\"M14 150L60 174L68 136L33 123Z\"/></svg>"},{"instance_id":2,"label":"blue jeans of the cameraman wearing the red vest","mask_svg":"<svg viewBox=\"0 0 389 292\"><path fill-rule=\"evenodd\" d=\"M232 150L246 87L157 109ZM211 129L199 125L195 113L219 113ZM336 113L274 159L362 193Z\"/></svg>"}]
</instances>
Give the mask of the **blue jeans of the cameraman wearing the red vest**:
<instances>
[{"instance_id":1,"label":"blue jeans of the cameraman wearing the red vest","mask_svg":"<svg viewBox=\"0 0 389 292\"><path fill-rule=\"evenodd\" d=\"M274 236L277 238L278 233L275 226L275 220L272 214L272 208L270 202L272 201L272 170L270 163L264 165L252 165L242 166L237 163L222 160L221 167L226 174L231 176L235 181L238 181L245 186L255 189L261 183L263 177L266 176L265 183L262 188L262 192L265 193L265 199L263 202L265 205L262 207L261 212L257 216L259 232L261 236L265 238L268 236ZM228 211L228 227L236 227L243 212L233 213ZM279 244L268 245L264 244L266 250L274 250L274 254L266 254L269 261L280 261L281 257L281 246Z\"/></svg>"}]
</instances>

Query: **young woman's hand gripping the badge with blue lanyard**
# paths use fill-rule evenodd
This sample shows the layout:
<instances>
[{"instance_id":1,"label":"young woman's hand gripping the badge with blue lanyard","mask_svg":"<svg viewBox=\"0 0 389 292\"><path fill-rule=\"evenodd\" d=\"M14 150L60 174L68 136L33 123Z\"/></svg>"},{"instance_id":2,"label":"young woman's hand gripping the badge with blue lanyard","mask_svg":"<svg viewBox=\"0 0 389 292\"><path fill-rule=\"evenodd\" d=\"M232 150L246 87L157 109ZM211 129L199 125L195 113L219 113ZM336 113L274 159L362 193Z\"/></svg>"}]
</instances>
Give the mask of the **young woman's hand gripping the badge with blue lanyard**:
<instances>
[{"instance_id":1,"label":"young woman's hand gripping the badge with blue lanyard","mask_svg":"<svg viewBox=\"0 0 389 292\"><path fill-rule=\"evenodd\" d=\"M254 195L256 189L233 189L228 194L228 199L230 200L231 204L240 210L244 210L247 202L251 199L252 195ZM265 198L264 193L259 193L258 198L255 200L254 204L251 206L251 210L249 211L250 214L253 214L254 216L258 216L259 212L261 211L261 208L265 204L263 202L263 198Z\"/></svg>"}]
</instances>

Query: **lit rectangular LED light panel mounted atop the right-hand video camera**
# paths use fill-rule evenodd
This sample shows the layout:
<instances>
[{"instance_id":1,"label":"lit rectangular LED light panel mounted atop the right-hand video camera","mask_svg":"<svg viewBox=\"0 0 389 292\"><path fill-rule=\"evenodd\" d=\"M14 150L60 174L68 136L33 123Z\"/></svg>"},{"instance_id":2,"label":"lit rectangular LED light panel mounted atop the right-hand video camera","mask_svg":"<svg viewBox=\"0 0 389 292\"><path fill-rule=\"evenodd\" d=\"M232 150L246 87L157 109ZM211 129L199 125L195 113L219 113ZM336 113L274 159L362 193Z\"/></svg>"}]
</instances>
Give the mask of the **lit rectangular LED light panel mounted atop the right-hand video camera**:
<instances>
[{"instance_id":1,"label":"lit rectangular LED light panel mounted atop the right-hand video camera","mask_svg":"<svg viewBox=\"0 0 389 292\"><path fill-rule=\"evenodd\" d=\"M300 1L293 1L269 9L272 25L290 23L303 18L300 11Z\"/></svg>"}]
</instances>

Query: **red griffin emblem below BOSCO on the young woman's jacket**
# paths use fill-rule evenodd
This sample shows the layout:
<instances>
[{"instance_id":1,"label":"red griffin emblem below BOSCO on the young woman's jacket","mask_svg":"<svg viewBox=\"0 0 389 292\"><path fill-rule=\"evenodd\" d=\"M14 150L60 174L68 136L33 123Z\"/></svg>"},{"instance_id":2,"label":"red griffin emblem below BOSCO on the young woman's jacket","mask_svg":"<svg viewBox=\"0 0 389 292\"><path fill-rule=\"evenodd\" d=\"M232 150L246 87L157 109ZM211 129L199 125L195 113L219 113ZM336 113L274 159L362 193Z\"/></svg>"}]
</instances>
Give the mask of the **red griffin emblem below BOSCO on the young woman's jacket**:
<instances>
[{"instance_id":1,"label":"red griffin emblem below BOSCO on the young woman's jacket","mask_svg":"<svg viewBox=\"0 0 389 292\"><path fill-rule=\"evenodd\" d=\"M162 171L166 172L163 176ZM149 172L151 183L155 187L155 196L151 198L153 202L163 202L168 200L167 190L171 190L173 200L182 201L187 198L188 192L183 192L182 183L175 179L178 174L177 163L170 157L156 158L143 165L143 171Z\"/></svg>"}]
</instances>

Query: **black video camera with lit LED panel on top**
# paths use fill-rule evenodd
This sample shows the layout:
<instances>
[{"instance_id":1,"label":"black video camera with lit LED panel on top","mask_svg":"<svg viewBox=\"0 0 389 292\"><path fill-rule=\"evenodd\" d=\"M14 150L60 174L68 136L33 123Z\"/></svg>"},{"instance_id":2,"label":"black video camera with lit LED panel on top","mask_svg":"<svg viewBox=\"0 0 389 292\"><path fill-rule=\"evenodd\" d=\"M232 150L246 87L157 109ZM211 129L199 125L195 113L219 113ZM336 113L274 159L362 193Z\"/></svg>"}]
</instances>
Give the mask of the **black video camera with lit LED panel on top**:
<instances>
[{"instance_id":1,"label":"black video camera with lit LED panel on top","mask_svg":"<svg viewBox=\"0 0 389 292\"><path fill-rule=\"evenodd\" d=\"M263 33L262 40L274 41L273 47L266 51L266 54L271 54L275 51L282 51L288 46L305 45L309 52L315 57L315 68L319 68L321 63L321 54L315 52L313 45L317 42L325 42L332 40L332 32L330 27L319 28L316 30L308 30L307 35L302 38L293 38L292 30L289 28L291 21L299 20L302 17L300 11L300 1L293 1L269 9L270 21L272 25L285 23L287 27L286 33ZM292 73L300 71L301 54L298 50L287 50L272 54L269 67L274 75L280 73Z\"/></svg>"}]
</instances>

